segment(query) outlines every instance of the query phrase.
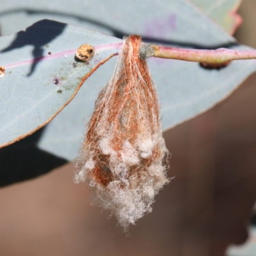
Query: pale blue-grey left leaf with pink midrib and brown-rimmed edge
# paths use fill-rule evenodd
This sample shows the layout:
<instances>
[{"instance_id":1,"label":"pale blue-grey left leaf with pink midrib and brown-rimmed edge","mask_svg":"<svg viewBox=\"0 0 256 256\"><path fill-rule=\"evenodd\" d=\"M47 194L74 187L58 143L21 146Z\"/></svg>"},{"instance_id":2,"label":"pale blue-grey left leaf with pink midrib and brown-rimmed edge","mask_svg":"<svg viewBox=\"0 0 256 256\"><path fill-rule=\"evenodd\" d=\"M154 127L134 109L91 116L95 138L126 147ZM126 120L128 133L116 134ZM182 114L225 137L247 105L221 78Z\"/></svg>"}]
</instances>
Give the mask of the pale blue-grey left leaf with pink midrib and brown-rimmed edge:
<instances>
[{"instance_id":1,"label":"pale blue-grey left leaf with pink midrib and brown-rimmed edge","mask_svg":"<svg viewBox=\"0 0 256 256\"><path fill-rule=\"evenodd\" d=\"M44 126L74 97L81 79L116 52L118 38L42 20L17 35L0 38L0 147ZM77 62L81 44L95 47L90 63ZM102 51L100 46L113 44ZM90 92L87 92L90 94Z\"/></svg>"}]
</instances>

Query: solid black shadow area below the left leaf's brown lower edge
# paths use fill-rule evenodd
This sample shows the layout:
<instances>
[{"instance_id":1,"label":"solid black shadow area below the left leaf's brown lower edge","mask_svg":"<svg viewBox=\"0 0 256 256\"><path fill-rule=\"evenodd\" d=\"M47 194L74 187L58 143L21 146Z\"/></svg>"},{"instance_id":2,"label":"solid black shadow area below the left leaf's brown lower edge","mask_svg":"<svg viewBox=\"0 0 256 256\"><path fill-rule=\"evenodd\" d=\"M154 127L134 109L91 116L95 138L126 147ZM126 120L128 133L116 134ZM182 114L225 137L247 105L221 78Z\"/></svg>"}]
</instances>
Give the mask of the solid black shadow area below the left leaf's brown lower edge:
<instances>
[{"instance_id":1,"label":"solid black shadow area below the left leaf's brown lower edge","mask_svg":"<svg viewBox=\"0 0 256 256\"><path fill-rule=\"evenodd\" d=\"M0 149L0 187L33 179L67 163L36 147L43 130Z\"/></svg>"}]
</instances>

